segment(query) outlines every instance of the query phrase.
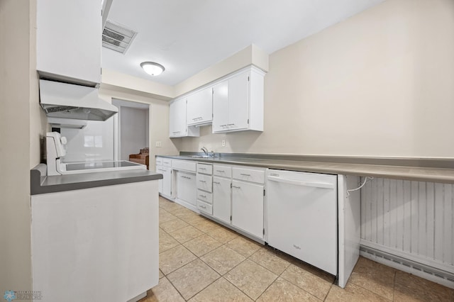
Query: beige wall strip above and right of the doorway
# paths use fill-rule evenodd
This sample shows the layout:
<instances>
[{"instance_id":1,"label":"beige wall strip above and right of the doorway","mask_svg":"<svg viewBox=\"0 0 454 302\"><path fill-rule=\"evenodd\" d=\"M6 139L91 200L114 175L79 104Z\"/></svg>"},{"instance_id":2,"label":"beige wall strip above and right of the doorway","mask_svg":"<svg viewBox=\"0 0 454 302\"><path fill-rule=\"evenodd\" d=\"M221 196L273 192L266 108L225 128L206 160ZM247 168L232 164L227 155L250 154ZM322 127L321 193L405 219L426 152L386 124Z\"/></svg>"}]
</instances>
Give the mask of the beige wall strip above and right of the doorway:
<instances>
[{"instance_id":1,"label":"beige wall strip above and right of the doorway","mask_svg":"<svg viewBox=\"0 0 454 302\"><path fill-rule=\"evenodd\" d=\"M114 91L110 89L99 89L99 97L111 102L114 99L124 101L135 101L143 104L150 104L148 141L150 142L150 170L155 170L155 155L175 155L178 154L179 140L169 138L169 103L146 96L129 94L126 92ZM155 142L162 142L162 147L155 147Z\"/></svg>"}]
</instances>

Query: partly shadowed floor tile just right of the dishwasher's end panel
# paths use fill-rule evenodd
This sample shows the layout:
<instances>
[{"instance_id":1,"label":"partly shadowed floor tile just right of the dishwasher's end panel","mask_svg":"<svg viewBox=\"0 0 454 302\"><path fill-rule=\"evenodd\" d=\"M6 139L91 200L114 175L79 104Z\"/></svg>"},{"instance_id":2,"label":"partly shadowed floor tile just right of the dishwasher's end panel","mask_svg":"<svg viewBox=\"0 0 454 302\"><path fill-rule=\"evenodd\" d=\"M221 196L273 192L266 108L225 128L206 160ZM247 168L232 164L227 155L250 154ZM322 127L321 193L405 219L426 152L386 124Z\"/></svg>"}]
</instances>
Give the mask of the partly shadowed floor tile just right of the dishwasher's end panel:
<instances>
[{"instance_id":1,"label":"partly shadowed floor tile just right of the dishwasher's end panel","mask_svg":"<svg viewBox=\"0 0 454 302\"><path fill-rule=\"evenodd\" d=\"M394 296L395 275L396 269L360 257L358 263L355 265L355 269L353 269L349 282L392 300Z\"/></svg>"}]
</instances>

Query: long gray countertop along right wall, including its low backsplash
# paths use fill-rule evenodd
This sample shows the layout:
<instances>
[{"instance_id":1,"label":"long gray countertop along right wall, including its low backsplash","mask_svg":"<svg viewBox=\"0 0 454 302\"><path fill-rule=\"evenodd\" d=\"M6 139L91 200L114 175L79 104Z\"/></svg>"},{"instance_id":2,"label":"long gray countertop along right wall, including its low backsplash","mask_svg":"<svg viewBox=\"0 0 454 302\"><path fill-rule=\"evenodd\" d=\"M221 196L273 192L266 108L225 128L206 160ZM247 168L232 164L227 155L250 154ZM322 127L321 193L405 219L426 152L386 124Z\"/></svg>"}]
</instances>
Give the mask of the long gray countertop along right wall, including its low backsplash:
<instances>
[{"instance_id":1,"label":"long gray countertop along right wall, including its low backsplash","mask_svg":"<svg viewBox=\"0 0 454 302\"><path fill-rule=\"evenodd\" d=\"M357 175L430 181L454 184L454 159L398 157L338 157L304 155L247 155L216 154L215 157L192 157L199 153L157 155L175 160L195 160L222 164L241 164L251 167L287 169L300 172Z\"/></svg>"}]
</instances>

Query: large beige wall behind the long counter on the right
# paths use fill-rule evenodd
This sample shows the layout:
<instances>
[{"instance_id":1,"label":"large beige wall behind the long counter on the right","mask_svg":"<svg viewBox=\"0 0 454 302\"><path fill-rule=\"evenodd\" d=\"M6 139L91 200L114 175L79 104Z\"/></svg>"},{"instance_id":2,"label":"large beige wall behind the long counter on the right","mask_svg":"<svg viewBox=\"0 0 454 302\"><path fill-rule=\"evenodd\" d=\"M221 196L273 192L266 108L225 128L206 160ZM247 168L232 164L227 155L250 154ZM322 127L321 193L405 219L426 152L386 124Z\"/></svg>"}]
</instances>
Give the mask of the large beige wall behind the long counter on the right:
<instances>
[{"instance_id":1,"label":"large beige wall behind the long counter on the right","mask_svg":"<svg viewBox=\"0 0 454 302\"><path fill-rule=\"evenodd\" d=\"M389 0L270 55L263 133L179 150L454 157L453 83L454 1Z\"/></svg>"}]
</instances>

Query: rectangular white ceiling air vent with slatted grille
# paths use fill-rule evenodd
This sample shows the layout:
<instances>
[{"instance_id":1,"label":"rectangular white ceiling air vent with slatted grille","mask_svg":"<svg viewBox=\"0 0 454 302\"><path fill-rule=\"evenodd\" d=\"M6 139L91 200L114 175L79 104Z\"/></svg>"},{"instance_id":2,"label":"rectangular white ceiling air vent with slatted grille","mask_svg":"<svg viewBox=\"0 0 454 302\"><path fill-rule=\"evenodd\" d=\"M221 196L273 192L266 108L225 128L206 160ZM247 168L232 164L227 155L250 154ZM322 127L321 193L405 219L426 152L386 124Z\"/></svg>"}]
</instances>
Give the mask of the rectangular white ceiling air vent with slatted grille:
<instances>
[{"instance_id":1,"label":"rectangular white ceiling air vent with slatted grille","mask_svg":"<svg viewBox=\"0 0 454 302\"><path fill-rule=\"evenodd\" d=\"M107 20L102 30L102 45L111 50L125 53L137 32Z\"/></svg>"}]
</instances>

